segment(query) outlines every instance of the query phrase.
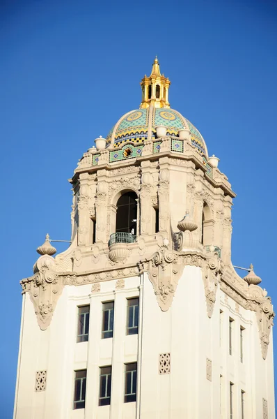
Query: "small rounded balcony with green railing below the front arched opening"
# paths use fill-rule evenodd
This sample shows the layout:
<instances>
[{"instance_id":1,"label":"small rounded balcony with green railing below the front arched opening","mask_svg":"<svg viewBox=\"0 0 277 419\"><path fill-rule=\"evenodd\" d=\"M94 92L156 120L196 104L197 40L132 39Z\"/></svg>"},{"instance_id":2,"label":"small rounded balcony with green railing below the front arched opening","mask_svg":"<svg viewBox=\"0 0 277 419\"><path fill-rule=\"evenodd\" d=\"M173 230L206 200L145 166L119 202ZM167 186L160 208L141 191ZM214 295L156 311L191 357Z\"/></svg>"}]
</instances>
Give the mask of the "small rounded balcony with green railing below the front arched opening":
<instances>
[{"instance_id":1,"label":"small rounded balcony with green railing below the front arched opening","mask_svg":"<svg viewBox=\"0 0 277 419\"><path fill-rule=\"evenodd\" d=\"M124 263L129 256L128 244L136 242L136 235L118 231L110 236L109 258L115 263Z\"/></svg>"}]
</instances>

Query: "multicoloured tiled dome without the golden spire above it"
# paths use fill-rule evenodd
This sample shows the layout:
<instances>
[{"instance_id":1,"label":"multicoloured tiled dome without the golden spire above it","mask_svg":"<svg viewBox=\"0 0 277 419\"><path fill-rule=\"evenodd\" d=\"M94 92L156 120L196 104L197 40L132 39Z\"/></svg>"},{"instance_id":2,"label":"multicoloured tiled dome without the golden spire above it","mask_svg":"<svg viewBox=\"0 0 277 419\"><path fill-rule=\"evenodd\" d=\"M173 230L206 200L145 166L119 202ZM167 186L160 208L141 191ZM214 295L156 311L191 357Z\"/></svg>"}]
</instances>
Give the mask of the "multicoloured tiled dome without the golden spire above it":
<instances>
[{"instance_id":1,"label":"multicoloured tiled dome without the golden spire above it","mask_svg":"<svg viewBox=\"0 0 277 419\"><path fill-rule=\"evenodd\" d=\"M155 126L167 127L167 135L178 135L178 131L188 128L191 132L191 144L201 156L207 158L205 141L193 124L177 110L171 108L146 108L132 110L123 115L118 123L111 128L106 137L106 147L121 147L126 142L139 144L145 140L156 138Z\"/></svg>"}]
</instances>

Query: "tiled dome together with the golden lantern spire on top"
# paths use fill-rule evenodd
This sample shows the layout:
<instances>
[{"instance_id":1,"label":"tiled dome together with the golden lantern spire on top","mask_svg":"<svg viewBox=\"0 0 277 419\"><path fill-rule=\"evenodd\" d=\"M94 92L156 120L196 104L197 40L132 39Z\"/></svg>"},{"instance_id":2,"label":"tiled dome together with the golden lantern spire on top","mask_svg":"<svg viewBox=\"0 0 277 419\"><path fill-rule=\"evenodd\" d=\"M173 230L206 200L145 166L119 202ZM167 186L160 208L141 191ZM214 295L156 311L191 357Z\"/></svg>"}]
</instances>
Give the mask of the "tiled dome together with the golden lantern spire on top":
<instances>
[{"instance_id":1,"label":"tiled dome together with the golden lantern spire on top","mask_svg":"<svg viewBox=\"0 0 277 419\"><path fill-rule=\"evenodd\" d=\"M193 124L177 110L170 108L168 89L171 82L159 71L156 57L150 77L144 76L141 81L142 102L138 110L123 115L106 136L106 147L118 148L127 142L139 145L145 140L155 140L157 126L166 126L166 135L178 136L178 131L188 129L191 133L191 144L196 147L200 156L208 159L205 141Z\"/></svg>"}]
</instances>

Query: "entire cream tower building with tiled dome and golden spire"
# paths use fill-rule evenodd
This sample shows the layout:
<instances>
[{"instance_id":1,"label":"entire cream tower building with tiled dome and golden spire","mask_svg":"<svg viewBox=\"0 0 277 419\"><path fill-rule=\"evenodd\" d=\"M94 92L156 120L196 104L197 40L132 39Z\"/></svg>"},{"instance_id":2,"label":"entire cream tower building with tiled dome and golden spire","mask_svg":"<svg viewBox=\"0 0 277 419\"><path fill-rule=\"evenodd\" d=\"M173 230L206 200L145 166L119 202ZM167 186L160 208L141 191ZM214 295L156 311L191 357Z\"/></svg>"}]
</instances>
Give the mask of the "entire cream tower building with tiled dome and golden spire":
<instances>
[{"instance_id":1,"label":"entire cream tower building with tiled dome and golden spire","mask_svg":"<svg viewBox=\"0 0 277 419\"><path fill-rule=\"evenodd\" d=\"M232 191L171 108L157 58L140 108L81 157L70 247L22 279L14 419L274 419L274 311L231 262Z\"/></svg>"}]
</instances>

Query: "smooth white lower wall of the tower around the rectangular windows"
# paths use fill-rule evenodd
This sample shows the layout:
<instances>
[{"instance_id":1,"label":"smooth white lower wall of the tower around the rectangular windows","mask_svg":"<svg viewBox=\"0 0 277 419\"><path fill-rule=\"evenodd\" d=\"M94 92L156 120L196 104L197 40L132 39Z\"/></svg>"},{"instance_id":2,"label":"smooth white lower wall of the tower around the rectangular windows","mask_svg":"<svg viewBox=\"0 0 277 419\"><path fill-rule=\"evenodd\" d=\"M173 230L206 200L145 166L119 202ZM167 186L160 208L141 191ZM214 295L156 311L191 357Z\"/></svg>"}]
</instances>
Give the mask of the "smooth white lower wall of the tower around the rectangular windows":
<instances>
[{"instance_id":1,"label":"smooth white lower wall of the tower around the rectangular windows","mask_svg":"<svg viewBox=\"0 0 277 419\"><path fill-rule=\"evenodd\" d=\"M91 285L65 286L45 331L38 327L26 294L15 419L229 418L230 381L234 418L241 418L241 390L245 418L262 418L262 398L268 401L269 418L275 418L272 335L263 360L255 312L219 290L209 318L199 267L184 267L168 311L159 308L146 273L125 279L125 288L115 287L116 281L102 282L101 292L91 294ZM139 334L126 336L126 298L135 296L140 297ZM110 300L115 302L113 338L101 339L102 302ZM83 304L90 304L89 341L77 343L77 307ZM232 355L229 317L234 320ZM159 374L160 353L171 354L170 374ZM212 360L212 381L206 377L207 358ZM136 361L137 402L124 403L124 364ZM98 406L99 368L106 365L112 366L111 406ZM86 409L73 410L77 369L87 369ZM47 387L35 392L35 372L41 370L47 370Z\"/></svg>"}]
</instances>

